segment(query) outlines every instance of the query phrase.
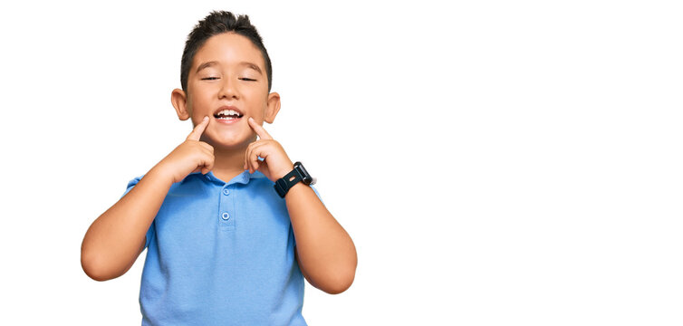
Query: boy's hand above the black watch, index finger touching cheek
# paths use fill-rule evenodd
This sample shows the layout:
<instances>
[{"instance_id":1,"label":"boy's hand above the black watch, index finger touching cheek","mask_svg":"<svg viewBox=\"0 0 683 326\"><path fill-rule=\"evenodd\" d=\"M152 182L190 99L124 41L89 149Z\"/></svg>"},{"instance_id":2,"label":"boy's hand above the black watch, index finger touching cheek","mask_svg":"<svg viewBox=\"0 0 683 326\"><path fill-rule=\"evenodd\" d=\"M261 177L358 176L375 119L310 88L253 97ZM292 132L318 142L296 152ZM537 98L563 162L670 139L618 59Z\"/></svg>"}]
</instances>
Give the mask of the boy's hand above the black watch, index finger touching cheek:
<instances>
[{"instance_id":1,"label":"boy's hand above the black watch, index finger touching cheek","mask_svg":"<svg viewBox=\"0 0 683 326\"><path fill-rule=\"evenodd\" d=\"M258 170L273 182L291 172L294 164L280 143L273 139L253 118L249 117L247 123L260 139L249 144L246 148L245 169L249 168L249 173ZM258 157L264 158L264 160L258 160Z\"/></svg>"}]
</instances>

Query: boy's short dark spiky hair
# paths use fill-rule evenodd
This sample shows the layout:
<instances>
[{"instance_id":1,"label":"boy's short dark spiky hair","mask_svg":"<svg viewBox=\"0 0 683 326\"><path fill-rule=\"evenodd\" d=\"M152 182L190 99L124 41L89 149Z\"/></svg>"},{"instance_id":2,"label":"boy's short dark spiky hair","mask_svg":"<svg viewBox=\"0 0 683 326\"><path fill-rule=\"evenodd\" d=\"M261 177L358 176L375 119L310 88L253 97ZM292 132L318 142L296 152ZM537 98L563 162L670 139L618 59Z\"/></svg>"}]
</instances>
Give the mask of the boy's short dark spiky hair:
<instances>
[{"instance_id":1,"label":"boy's short dark spiky hair","mask_svg":"<svg viewBox=\"0 0 683 326\"><path fill-rule=\"evenodd\" d=\"M183 51L183 58L180 61L180 84L183 91L188 91L188 76L189 70L192 68L192 60L195 58L197 50L204 45L205 42L216 34L223 34L227 32L234 32L249 39L261 51L264 57L265 73L268 75L268 91L270 91L273 83L273 67L270 64L270 57L265 51L264 41L261 35L256 31L256 27L249 22L249 16L246 14L235 14L226 11L213 11L208 14L204 20L199 21L195 28L188 35L188 41L185 43L185 50Z\"/></svg>"}]
</instances>

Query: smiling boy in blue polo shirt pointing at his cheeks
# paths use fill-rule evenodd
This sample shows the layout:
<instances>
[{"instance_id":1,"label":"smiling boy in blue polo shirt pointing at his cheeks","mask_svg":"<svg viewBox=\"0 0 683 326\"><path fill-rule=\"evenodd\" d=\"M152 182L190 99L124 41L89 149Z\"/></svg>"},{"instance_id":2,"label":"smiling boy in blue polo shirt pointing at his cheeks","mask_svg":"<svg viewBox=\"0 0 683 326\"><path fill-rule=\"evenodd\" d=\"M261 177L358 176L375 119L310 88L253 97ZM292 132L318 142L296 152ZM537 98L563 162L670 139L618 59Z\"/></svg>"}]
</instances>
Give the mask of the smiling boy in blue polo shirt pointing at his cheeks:
<instances>
[{"instance_id":1,"label":"smiling boy in blue polo shirt pointing at his cheeks","mask_svg":"<svg viewBox=\"0 0 683 326\"><path fill-rule=\"evenodd\" d=\"M119 277L149 248L143 325L305 325L303 277L343 292L357 255L305 172L301 180L305 170L261 126L273 123L280 96L248 16L200 21L180 75L171 101L195 128L92 223L83 271Z\"/></svg>"}]
</instances>

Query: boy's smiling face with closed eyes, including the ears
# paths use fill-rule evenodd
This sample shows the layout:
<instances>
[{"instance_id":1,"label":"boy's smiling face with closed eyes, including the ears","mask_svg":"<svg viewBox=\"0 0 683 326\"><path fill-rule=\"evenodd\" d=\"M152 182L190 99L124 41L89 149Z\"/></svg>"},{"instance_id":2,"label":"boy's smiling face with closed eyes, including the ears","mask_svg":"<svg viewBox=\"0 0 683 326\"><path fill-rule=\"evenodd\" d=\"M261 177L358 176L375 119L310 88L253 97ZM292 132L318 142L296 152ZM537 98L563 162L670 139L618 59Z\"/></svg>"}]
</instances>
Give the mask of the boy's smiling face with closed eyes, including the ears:
<instances>
[{"instance_id":1,"label":"boy's smiling face with closed eyes, including the ears","mask_svg":"<svg viewBox=\"0 0 683 326\"><path fill-rule=\"evenodd\" d=\"M245 36L234 33L207 39L193 59L187 94L182 94L181 99L179 93L182 91L175 90L172 95L178 118L191 118L193 125L197 125L208 116L209 123L201 139L214 147L245 147L256 139L247 119L252 117L258 124L264 120L272 123L280 109L279 95L268 93L261 52ZM180 101L178 105L177 101ZM241 112L242 118L216 118L226 107Z\"/></svg>"}]
</instances>

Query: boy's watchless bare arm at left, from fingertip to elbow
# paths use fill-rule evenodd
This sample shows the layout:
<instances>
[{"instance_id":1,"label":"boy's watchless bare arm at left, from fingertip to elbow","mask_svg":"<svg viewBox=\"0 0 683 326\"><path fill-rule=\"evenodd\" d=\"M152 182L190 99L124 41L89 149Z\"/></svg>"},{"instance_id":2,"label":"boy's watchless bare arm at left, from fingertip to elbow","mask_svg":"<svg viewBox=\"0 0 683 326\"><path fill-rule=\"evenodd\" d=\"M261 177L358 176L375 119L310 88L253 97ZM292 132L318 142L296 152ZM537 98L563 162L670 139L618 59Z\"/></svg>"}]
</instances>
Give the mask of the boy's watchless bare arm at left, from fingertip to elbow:
<instances>
[{"instance_id":1,"label":"boy's watchless bare arm at left, from fingertip to elbow","mask_svg":"<svg viewBox=\"0 0 683 326\"><path fill-rule=\"evenodd\" d=\"M149 225L170 187L192 172L208 173L214 167L214 148L199 140L208 123L204 117L183 143L92 222L83 237L81 265L93 280L111 280L128 272L145 248Z\"/></svg>"}]
</instances>

